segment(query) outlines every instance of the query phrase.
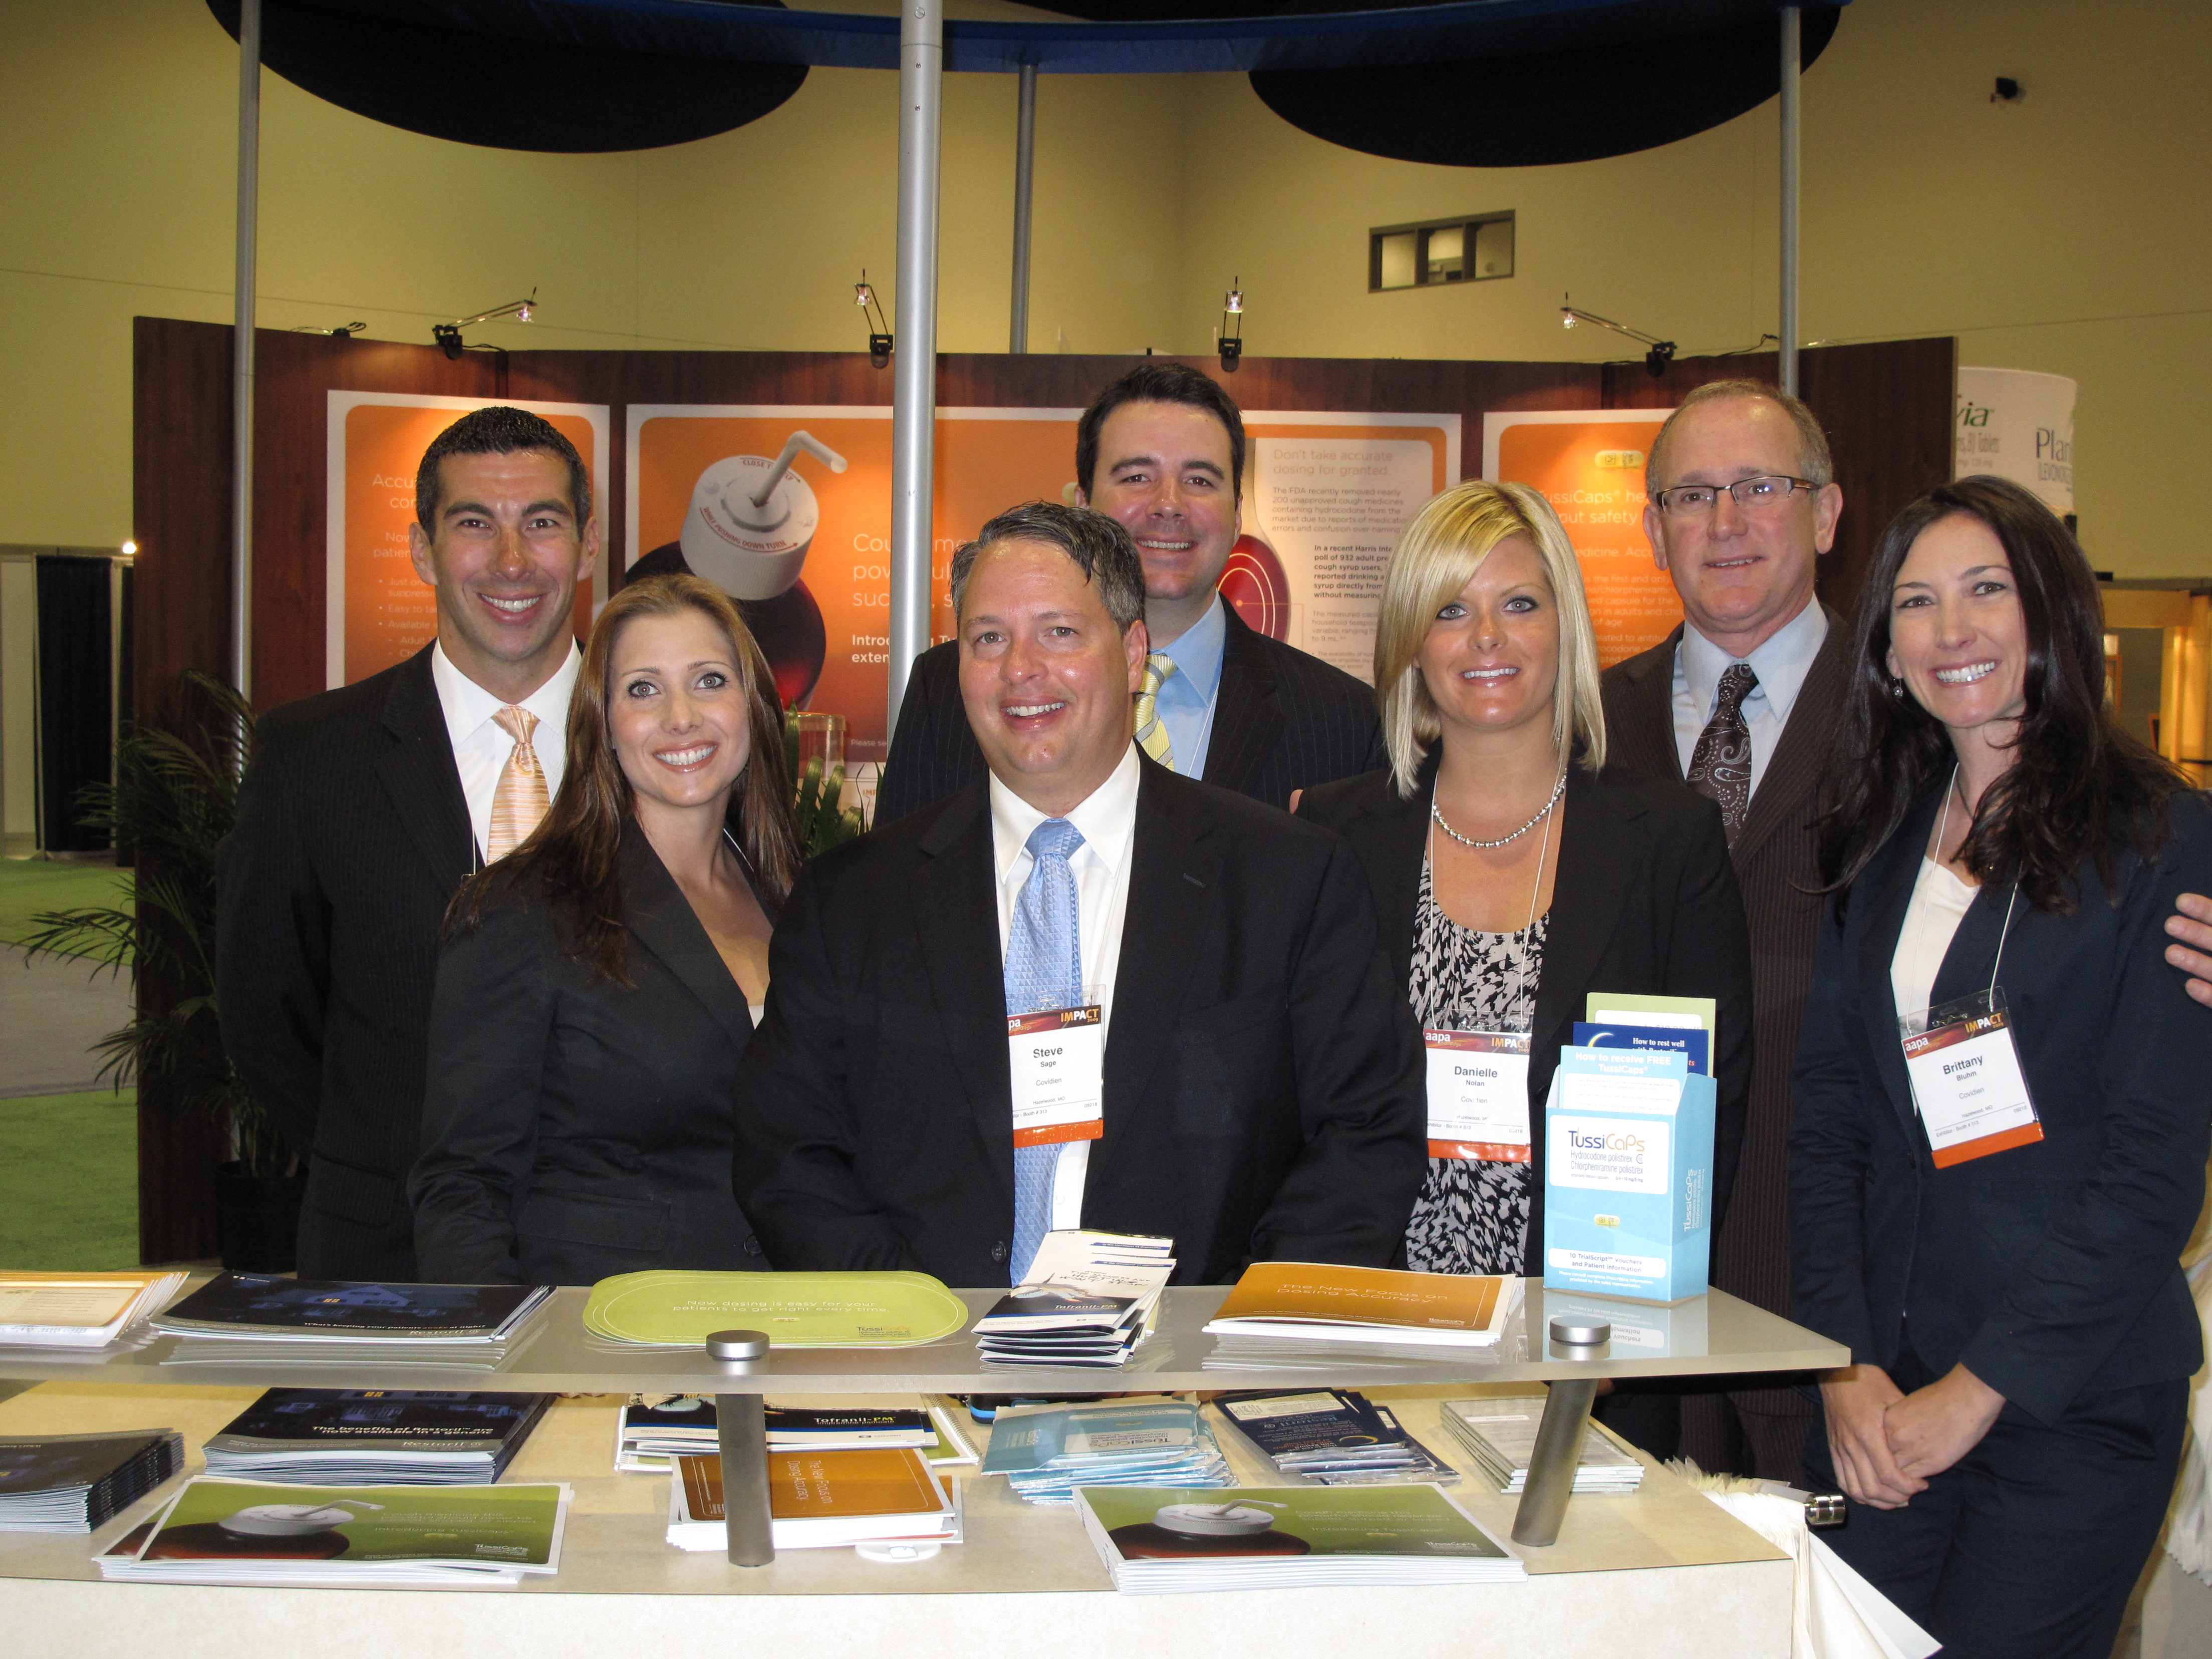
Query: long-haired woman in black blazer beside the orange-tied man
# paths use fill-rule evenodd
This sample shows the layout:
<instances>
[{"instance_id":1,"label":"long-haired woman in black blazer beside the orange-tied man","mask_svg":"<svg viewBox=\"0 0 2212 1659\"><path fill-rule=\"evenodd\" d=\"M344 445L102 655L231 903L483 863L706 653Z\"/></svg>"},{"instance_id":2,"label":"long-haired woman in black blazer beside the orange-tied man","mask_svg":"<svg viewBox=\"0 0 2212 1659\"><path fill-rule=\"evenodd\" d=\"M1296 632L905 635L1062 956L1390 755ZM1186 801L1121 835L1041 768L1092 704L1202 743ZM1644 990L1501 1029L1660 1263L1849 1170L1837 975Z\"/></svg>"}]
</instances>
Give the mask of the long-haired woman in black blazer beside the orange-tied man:
<instances>
[{"instance_id":1,"label":"long-haired woman in black blazer beside the orange-tied man","mask_svg":"<svg viewBox=\"0 0 2212 1659\"><path fill-rule=\"evenodd\" d=\"M765 1267L730 1088L799 876L759 646L695 575L622 588L538 832L453 900L407 1192L429 1281Z\"/></svg>"}]
</instances>

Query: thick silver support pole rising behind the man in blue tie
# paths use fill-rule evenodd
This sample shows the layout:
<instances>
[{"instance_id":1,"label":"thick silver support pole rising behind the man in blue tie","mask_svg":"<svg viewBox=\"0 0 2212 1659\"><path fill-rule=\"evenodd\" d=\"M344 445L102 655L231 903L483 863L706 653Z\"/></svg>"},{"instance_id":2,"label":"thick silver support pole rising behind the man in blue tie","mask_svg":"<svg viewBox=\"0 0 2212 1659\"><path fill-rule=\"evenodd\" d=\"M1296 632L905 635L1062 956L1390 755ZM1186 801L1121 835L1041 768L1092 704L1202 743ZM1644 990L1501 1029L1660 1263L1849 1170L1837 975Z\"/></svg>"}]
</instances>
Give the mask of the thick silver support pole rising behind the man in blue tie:
<instances>
[{"instance_id":1,"label":"thick silver support pole rising behind the man in blue tie","mask_svg":"<svg viewBox=\"0 0 2212 1659\"><path fill-rule=\"evenodd\" d=\"M931 482L938 425L938 117L945 0L898 11L898 352L891 367L891 661L889 726L907 672L929 648Z\"/></svg>"}]
</instances>

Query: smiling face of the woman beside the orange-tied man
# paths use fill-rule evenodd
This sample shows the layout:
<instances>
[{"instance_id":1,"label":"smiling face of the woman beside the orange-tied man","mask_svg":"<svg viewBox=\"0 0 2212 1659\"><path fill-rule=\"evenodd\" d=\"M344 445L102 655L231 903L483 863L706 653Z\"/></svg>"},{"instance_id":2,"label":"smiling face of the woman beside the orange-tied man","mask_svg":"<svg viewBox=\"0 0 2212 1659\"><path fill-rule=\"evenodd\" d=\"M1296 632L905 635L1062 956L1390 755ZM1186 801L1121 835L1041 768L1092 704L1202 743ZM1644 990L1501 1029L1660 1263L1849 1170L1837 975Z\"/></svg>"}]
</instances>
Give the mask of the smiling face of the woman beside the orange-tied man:
<instances>
[{"instance_id":1,"label":"smiling face of the woman beside the orange-tied man","mask_svg":"<svg viewBox=\"0 0 2212 1659\"><path fill-rule=\"evenodd\" d=\"M712 617L637 617L608 653L606 726L639 816L721 814L752 754L737 653Z\"/></svg>"}]
</instances>

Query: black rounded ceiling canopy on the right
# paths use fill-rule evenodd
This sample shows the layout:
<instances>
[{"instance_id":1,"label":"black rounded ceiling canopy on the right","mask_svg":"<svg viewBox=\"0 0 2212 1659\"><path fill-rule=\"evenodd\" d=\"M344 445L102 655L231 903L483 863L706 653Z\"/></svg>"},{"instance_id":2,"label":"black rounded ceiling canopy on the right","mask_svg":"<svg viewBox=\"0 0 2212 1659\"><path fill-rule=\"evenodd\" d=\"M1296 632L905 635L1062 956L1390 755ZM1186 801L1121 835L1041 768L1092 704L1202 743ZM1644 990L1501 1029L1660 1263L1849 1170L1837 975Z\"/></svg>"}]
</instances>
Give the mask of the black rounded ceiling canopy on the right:
<instances>
[{"instance_id":1,"label":"black rounded ceiling canopy on the right","mask_svg":"<svg viewBox=\"0 0 2212 1659\"><path fill-rule=\"evenodd\" d=\"M1329 0L1332 11L1352 4ZM1805 7L1803 64L1823 53L1836 18L1832 7ZM1517 168L1597 161L1721 126L1774 97L1778 64L1781 22L1763 20L1577 51L1256 71L1252 91L1298 131L1349 150Z\"/></svg>"}]
</instances>

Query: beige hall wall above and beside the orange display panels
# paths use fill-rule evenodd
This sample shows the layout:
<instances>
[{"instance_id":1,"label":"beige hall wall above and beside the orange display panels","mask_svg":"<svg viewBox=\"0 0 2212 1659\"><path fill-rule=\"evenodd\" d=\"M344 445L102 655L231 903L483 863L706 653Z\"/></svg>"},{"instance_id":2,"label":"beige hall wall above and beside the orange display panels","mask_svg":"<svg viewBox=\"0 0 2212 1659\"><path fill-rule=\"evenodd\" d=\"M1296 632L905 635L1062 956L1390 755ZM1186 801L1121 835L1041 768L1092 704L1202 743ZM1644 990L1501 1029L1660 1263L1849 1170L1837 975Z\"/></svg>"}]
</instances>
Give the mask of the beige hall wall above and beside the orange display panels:
<instances>
[{"instance_id":1,"label":"beige hall wall above and beside the orange display panels","mask_svg":"<svg viewBox=\"0 0 2212 1659\"><path fill-rule=\"evenodd\" d=\"M0 0L0 542L131 531L128 319L230 316L234 62L201 0ZM2124 575L2212 573L2208 71L2197 0L1858 0L1805 82L1807 336L1958 334L1964 363L2075 376L2084 540ZM2022 104L1989 104L2000 73ZM894 86L814 71L717 139L553 157L270 75L263 325L420 341L538 285L544 321L482 338L856 347L860 265L894 288ZM951 77L947 349L1004 349L1011 139L1013 80ZM1767 104L1613 161L1425 168L1310 139L1237 75L1046 77L1031 345L1208 349L1230 276L1254 354L1624 354L1559 330L1568 290L1686 352L1750 345L1774 327L1774 142ZM1511 281L1367 294L1369 226L1498 208Z\"/></svg>"}]
</instances>

